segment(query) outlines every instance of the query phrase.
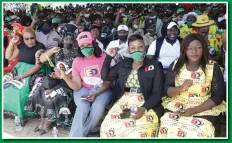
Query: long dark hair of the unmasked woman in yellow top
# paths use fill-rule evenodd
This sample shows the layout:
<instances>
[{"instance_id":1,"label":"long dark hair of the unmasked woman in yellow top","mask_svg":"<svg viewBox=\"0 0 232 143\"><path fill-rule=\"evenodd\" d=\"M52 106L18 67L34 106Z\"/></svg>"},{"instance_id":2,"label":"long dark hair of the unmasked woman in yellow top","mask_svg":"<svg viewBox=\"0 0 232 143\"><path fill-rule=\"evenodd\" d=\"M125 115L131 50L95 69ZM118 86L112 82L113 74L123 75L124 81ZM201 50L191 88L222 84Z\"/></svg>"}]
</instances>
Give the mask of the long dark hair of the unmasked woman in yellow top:
<instances>
[{"instance_id":1,"label":"long dark hair of the unmasked woman in yellow top","mask_svg":"<svg viewBox=\"0 0 232 143\"><path fill-rule=\"evenodd\" d=\"M209 62L209 51L208 51L208 45L205 41L205 39L199 35L199 34L189 34L182 42L181 42L181 48L180 48L180 57L174 67L174 75L178 75L180 73L180 69L183 67L185 63L188 62L188 57L186 56L186 51L189 46L189 44L197 40L202 44L202 57L200 61L200 66L202 70L205 72L206 64Z\"/></svg>"}]
</instances>

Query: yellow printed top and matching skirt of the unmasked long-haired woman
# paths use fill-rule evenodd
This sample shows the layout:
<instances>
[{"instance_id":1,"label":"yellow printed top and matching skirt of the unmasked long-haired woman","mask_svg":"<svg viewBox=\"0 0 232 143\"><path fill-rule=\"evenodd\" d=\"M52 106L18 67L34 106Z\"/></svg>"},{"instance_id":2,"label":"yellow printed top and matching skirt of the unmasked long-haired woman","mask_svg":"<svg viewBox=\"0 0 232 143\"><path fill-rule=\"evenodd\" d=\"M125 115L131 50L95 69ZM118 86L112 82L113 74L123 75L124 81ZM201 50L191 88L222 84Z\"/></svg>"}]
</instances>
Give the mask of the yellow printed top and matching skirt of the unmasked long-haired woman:
<instances>
[{"instance_id":1,"label":"yellow printed top and matching skirt of the unmasked long-haired woman","mask_svg":"<svg viewBox=\"0 0 232 143\"><path fill-rule=\"evenodd\" d=\"M166 96L163 98L163 107L172 112L180 112L187 108L199 106L208 100L211 96L214 64L214 61L210 61L206 65L205 73L201 68L195 72L188 71L184 65L180 74L175 78L175 87L181 86L186 79L192 79L193 85L175 97ZM192 116L219 116L225 110L226 104L223 101L210 110ZM214 132L213 124L206 119L183 117L167 112L161 118L159 137L214 137Z\"/></svg>"}]
</instances>

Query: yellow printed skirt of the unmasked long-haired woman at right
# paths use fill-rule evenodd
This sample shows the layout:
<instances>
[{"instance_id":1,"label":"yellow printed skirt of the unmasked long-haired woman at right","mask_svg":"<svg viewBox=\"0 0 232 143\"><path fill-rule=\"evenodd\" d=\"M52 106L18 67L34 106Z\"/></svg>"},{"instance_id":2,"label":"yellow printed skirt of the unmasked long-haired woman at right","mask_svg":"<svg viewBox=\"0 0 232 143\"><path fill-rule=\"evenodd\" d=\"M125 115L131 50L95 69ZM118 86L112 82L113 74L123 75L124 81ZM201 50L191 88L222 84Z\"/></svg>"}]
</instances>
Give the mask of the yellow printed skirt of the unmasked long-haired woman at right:
<instances>
[{"instance_id":1,"label":"yellow printed skirt of the unmasked long-haired woman at right","mask_svg":"<svg viewBox=\"0 0 232 143\"><path fill-rule=\"evenodd\" d=\"M207 138L214 137L215 128L206 119L178 116L167 112L161 117L160 138Z\"/></svg>"}]
</instances>

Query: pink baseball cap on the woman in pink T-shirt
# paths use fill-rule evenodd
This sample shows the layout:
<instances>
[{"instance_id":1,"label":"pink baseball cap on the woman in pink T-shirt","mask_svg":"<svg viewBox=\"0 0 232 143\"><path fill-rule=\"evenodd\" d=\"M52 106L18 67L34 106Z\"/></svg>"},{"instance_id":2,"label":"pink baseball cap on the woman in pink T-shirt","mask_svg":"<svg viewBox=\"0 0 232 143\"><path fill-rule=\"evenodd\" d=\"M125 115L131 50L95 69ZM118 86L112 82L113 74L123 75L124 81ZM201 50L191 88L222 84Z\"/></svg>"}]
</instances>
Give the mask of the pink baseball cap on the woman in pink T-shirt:
<instances>
[{"instance_id":1,"label":"pink baseball cap on the woman in pink T-shirt","mask_svg":"<svg viewBox=\"0 0 232 143\"><path fill-rule=\"evenodd\" d=\"M93 40L94 37L91 32L84 31L77 36L77 42L79 47L83 44L92 44Z\"/></svg>"}]
</instances>

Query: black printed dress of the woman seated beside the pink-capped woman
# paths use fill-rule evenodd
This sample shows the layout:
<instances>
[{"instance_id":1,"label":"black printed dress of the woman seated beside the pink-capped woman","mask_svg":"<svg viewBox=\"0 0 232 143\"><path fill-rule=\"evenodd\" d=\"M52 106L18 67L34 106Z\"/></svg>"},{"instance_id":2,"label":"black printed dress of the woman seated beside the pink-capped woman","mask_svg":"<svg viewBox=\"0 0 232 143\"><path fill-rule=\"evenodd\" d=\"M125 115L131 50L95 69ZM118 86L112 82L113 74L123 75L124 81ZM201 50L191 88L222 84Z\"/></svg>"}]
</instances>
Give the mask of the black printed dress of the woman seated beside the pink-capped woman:
<instances>
[{"instance_id":1,"label":"black printed dress of the woman seated beside the pink-capped woman","mask_svg":"<svg viewBox=\"0 0 232 143\"><path fill-rule=\"evenodd\" d=\"M77 52L74 49L69 51L62 49L52 59L57 68L65 72L68 71L67 74L70 74L72 61L76 56ZM51 89L45 89L42 87L43 79L34 85L24 109L40 115L41 118L48 118L49 121L55 122L58 126L70 127L72 123L71 111L74 108L70 104L73 91L65 81L60 79L56 79L57 84Z\"/></svg>"}]
</instances>

